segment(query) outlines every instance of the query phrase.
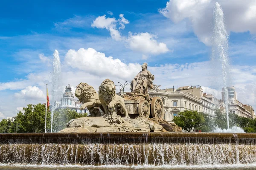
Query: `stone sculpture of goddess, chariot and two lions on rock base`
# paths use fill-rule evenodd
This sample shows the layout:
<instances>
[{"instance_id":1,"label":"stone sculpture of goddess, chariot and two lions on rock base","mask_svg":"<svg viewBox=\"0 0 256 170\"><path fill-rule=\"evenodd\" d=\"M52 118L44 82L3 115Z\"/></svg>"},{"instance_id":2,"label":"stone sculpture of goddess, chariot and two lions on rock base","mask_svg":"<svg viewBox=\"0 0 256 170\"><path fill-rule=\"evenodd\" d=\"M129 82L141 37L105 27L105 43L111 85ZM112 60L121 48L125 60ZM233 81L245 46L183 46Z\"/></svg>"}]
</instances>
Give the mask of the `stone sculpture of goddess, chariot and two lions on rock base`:
<instances>
[{"instance_id":1,"label":"stone sculpture of goddess, chariot and two lions on rock base","mask_svg":"<svg viewBox=\"0 0 256 170\"><path fill-rule=\"evenodd\" d=\"M99 94L81 82L75 95L83 103L81 109L87 108L91 116L70 120L60 132L181 132L174 123L164 121L162 99L149 96L152 80L154 75L144 63L131 82L131 93L122 96L116 94L116 86L110 79L99 86Z\"/></svg>"}]
</instances>

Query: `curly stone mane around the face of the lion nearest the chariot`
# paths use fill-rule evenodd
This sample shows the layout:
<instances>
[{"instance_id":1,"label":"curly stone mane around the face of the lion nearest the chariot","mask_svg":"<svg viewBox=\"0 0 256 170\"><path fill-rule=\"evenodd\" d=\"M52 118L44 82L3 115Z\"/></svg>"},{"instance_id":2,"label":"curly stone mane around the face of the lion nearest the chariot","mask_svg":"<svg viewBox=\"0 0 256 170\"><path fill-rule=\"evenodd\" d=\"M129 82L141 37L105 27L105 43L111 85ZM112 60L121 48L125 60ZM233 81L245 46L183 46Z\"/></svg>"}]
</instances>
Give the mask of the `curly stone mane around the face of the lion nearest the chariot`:
<instances>
[{"instance_id":1,"label":"curly stone mane around the face of the lion nearest the chariot","mask_svg":"<svg viewBox=\"0 0 256 170\"><path fill-rule=\"evenodd\" d=\"M111 94L108 94L108 92L107 92L106 85L108 84L108 82L111 82L111 84L113 84L113 86L115 87L114 91ZM98 93L99 93L99 96L102 97L102 99L104 100L106 105L108 105L116 95L116 86L115 86L114 82L111 79L105 79L102 82L102 84L99 86Z\"/></svg>"}]
</instances>

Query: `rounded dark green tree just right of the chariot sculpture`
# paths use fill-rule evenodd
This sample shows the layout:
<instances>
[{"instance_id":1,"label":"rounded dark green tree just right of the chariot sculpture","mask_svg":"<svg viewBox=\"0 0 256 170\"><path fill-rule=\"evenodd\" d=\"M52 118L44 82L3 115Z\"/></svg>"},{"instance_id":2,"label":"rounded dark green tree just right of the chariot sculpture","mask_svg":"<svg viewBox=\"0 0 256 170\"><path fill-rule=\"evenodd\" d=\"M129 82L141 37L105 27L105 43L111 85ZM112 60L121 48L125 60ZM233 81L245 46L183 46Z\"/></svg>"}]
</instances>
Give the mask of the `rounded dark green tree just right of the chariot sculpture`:
<instances>
[{"instance_id":1,"label":"rounded dark green tree just right of the chariot sculpture","mask_svg":"<svg viewBox=\"0 0 256 170\"><path fill-rule=\"evenodd\" d=\"M173 121L176 125L182 127L183 130L194 132L199 129L205 122L204 116L197 111L183 111L175 116Z\"/></svg>"}]
</instances>

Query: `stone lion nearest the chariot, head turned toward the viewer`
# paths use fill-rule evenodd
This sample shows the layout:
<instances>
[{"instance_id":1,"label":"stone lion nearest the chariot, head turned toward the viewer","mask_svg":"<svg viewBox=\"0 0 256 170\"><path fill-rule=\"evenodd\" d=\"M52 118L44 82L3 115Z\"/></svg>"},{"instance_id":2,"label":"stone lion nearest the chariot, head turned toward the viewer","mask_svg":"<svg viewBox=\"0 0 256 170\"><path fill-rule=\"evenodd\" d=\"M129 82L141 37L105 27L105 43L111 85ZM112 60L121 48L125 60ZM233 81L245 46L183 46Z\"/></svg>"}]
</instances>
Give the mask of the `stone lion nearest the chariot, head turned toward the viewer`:
<instances>
[{"instance_id":1,"label":"stone lion nearest the chariot, head turned toward the viewer","mask_svg":"<svg viewBox=\"0 0 256 170\"><path fill-rule=\"evenodd\" d=\"M105 79L99 86L99 100L106 115L116 115L117 107L120 106L125 117L129 118L125 101L121 96L116 95L116 86L112 80Z\"/></svg>"}]
</instances>

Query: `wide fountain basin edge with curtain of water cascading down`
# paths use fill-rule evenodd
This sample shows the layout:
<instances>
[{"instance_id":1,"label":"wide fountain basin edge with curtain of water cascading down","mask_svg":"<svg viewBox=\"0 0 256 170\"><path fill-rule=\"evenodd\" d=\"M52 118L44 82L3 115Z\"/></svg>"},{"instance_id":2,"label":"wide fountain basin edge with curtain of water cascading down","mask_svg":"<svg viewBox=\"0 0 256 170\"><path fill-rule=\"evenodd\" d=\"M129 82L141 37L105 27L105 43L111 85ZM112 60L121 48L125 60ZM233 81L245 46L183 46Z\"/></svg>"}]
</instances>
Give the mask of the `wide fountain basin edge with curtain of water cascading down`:
<instances>
[{"instance_id":1,"label":"wide fountain basin edge with curtain of water cascading down","mask_svg":"<svg viewBox=\"0 0 256 170\"><path fill-rule=\"evenodd\" d=\"M6 133L0 164L212 166L256 163L254 133Z\"/></svg>"}]
</instances>

